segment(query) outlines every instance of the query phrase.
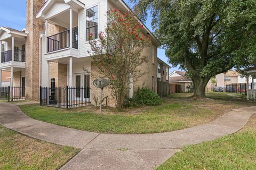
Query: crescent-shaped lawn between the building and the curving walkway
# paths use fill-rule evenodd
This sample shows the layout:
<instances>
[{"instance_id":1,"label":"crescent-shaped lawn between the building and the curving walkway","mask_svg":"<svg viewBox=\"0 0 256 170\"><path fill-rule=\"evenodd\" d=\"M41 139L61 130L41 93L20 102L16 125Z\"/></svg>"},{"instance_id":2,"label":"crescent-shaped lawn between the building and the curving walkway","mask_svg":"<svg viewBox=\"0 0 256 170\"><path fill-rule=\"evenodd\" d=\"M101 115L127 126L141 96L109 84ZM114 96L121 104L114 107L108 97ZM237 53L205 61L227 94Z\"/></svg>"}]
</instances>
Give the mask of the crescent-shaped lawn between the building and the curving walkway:
<instances>
[{"instance_id":1,"label":"crescent-shaped lawn between the building and the curving walkway","mask_svg":"<svg viewBox=\"0 0 256 170\"><path fill-rule=\"evenodd\" d=\"M99 113L92 106L70 110L39 105L23 105L20 108L36 120L68 128L100 133L137 134L185 129L215 120L231 109L255 105L237 97L214 98L223 94L213 94L209 99L203 100L187 98L190 94L178 95L164 98L161 106L132 108L125 112L116 112L110 108Z\"/></svg>"}]
</instances>

